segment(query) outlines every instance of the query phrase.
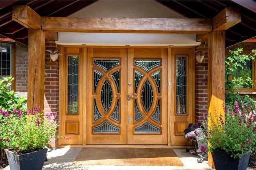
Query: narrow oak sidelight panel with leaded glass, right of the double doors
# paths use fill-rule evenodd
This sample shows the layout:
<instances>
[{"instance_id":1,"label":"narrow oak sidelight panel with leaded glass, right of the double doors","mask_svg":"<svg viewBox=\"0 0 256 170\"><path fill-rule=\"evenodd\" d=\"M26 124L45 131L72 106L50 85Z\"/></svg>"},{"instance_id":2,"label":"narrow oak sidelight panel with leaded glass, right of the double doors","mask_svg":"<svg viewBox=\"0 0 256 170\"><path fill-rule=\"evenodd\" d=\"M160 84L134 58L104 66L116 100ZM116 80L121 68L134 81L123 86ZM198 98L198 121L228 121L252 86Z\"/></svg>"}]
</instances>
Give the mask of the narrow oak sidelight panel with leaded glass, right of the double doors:
<instances>
[{"instance_id":1,"label":"narrow oak sidelight panel with leaded glass, right of the double doors","mask_svg":"<svg viewBox=\"0 0 256 170\"><path fill-rule=\"evenodd\" d=\"M172 49L170 69L175 76L170 96L170 143L171 145L190 145L184 138L184 129L195 121L195 59L192 48Z\"/></svg>"}]
</instances>

